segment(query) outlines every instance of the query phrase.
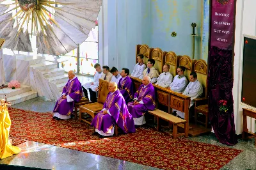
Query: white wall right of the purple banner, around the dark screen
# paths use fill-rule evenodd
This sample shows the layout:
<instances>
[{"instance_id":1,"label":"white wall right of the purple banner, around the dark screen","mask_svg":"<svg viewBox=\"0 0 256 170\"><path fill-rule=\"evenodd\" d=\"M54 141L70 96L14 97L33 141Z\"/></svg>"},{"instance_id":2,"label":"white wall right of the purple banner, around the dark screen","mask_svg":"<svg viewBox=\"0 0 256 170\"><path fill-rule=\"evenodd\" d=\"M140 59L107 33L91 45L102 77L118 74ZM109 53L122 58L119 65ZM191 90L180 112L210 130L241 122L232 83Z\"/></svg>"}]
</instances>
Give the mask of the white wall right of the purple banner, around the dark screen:
<instances>
[{"instance_id":1,"label":"white wall right of the purple banner, around the dark screen","mask_svg":"<svg viewBox=\"0 0 256 170\"><path fill-rule=\"evenodd\" d=\"M256 1L237 0L236 4L236 31L235 31L235 56L234 56L234 116L236 134L242 133L243 107L256 110L254 107L241 103L241 80L243 64L243 34L256 36ZM253 77L252 77L253 78ZM253 88L253 87L248 87ZM253 93L252 93L253 95ZM255 132L255 120L248 119L248 129Z\"/></svg>"}]
</instances>

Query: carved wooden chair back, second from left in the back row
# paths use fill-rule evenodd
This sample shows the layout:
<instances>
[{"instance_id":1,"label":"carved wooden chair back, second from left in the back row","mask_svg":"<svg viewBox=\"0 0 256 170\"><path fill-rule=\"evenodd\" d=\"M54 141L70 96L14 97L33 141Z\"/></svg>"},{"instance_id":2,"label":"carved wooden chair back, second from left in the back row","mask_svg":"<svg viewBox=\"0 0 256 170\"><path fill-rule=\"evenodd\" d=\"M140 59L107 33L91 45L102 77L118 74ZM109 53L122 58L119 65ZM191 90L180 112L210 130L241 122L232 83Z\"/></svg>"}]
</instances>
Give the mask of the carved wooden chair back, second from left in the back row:
<instances>
[{"instance_id":1,"label":"carved wooden chair back, second from left in the back row","mask_svg":"<svg viewBox=\"0 0 256 170\"><path fill-rule=\"evenodd\" d=\"M162 51L159 48L152 49L152 59L155 60L155 65L154 67L158 70L159 74L163 72L163 63L164 63L164 56L166 52Z\"/></svg>"}]
</instances>

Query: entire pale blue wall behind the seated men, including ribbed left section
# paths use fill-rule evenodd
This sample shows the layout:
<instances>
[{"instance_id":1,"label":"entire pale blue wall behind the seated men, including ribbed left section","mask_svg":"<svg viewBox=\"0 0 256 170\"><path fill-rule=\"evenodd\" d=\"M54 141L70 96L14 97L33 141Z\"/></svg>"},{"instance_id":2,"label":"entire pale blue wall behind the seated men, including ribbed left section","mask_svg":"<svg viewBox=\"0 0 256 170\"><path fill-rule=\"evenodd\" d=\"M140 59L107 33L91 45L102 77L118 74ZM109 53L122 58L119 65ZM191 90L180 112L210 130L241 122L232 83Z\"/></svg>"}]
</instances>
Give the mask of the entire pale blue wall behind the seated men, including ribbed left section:
<instances>
[{"instance_id":1,"label":"entire pale blue wall behind the seated men, including ribbed left section","mask_svg":"<svg viewBox=\"0 0 256 170\"><path fill-rule=\"evenodd\" d=\"M198 35L195 58L200 58L202 2L209 0L194 1L103 0L99 16L99 63L116 66L118 70L126 67L132 72L135 47L144 43L192 56L192 22L197 24ZM174 38L172 31L177 32Z\"/></svg>"}]
</instances>

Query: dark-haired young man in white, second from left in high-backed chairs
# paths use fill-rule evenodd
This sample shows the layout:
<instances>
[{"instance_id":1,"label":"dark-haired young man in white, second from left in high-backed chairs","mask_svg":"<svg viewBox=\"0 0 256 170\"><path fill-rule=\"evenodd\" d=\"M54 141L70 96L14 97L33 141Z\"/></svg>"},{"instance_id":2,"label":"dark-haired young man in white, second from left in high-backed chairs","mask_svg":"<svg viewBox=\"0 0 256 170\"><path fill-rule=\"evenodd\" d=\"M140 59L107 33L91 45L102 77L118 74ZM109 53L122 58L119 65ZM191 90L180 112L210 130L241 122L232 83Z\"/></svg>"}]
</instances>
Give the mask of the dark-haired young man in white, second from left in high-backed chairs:
<instances>
[{"instance_id":1,"label":"dark-haired young man in white, second from left in high-backed chairs","mask_svg":"<svg viewBox=\"0 0 256 170\"><path fill-rule=\"evenodd\" d=\"M143 75L140 76L140 79L143 79L146 75L150 77L150 82L155 83L157 82L157 77L159 75L159 72L154 67L155 60L154 59L148 59L147 68L143 71Z\"/></svg>"}]
</instances>

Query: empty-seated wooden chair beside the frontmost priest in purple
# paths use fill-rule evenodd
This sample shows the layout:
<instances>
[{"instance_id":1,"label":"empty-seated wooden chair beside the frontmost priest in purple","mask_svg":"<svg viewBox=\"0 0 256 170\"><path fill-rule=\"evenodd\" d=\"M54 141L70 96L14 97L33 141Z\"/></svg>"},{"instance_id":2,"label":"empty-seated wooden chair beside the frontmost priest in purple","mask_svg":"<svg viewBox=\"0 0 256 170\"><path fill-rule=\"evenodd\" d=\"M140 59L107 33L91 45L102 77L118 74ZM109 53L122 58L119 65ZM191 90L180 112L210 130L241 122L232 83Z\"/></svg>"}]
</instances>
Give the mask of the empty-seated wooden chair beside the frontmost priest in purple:
<instances>
[{"instance_id":1,"label":"empty-seated wooden chair beside the frontmost priest in purple","mask_svg":"<svg viewBox=\"0 0 256 170\"><path fill-rule=\"evenodd\" d=\"M108 96L109 90L108 90L108 81L104 81L103 79L99 79L99 91L98 91L98 102L91 103L91 104L84 104L80 105L80 114L79 114L79 120L84 121L86 123L91 124L92 122L83 119L82 118L82 112L86 112L92 118L95 117L95 115L100 112L103 108L103 104L106 101L106 98Z\"/></svg>"}]
</instances>

